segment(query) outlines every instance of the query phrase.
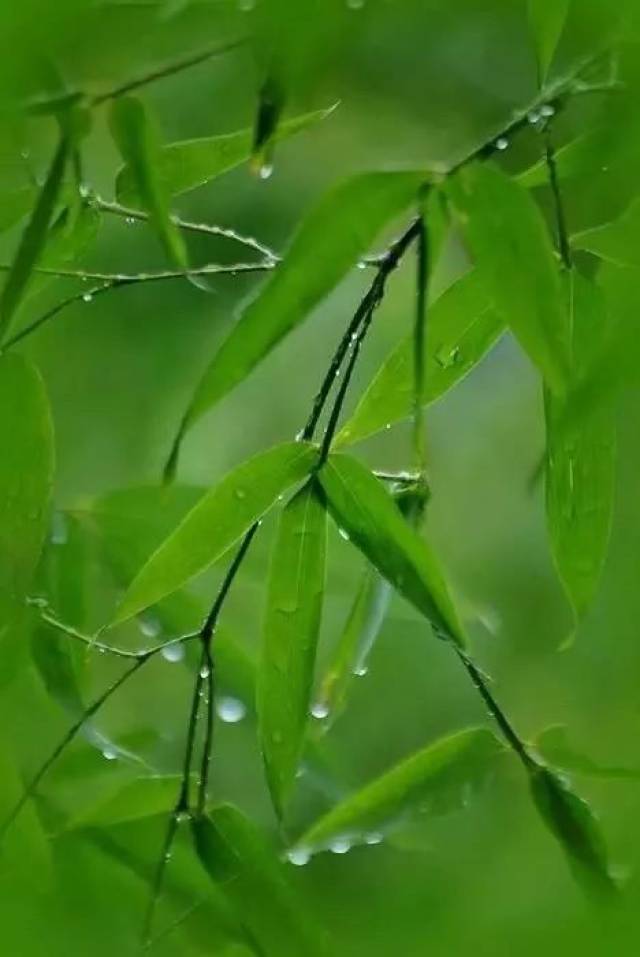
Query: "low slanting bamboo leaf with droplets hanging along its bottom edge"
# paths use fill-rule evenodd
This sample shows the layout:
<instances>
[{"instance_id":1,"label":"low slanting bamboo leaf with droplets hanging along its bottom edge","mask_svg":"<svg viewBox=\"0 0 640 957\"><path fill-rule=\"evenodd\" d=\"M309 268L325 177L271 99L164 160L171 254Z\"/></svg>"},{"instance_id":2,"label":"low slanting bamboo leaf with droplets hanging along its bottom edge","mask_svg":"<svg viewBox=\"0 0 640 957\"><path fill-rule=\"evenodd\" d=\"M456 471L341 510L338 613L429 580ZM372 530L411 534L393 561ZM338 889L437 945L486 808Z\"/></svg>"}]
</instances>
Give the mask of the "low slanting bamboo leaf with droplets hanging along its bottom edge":
<instances>
[{"instance_id":1,"label":"low slanting bamboo leaf with droplets hanging along its bottom edge","mask_svg":"<svg viewBox=\"0 0 640 957\"><path fill-rule=\"evenodd\" d=\"M414 814L444 814L477 790L504 751L486 728L470 728L440 738L397 764L362 790L349 795L312 824L296 842L307 852L336 840L366 842Z\"/></svg>"}]
</instances>

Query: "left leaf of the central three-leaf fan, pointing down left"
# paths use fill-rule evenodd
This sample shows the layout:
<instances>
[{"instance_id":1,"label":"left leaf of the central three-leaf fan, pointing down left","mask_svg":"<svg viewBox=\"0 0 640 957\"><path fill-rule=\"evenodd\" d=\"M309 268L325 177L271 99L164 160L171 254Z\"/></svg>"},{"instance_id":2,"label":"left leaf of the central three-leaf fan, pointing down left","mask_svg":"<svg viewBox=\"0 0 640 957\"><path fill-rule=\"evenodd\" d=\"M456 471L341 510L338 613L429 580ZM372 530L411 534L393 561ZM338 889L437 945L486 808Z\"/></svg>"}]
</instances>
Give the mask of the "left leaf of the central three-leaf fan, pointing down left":
<instances>
[{"instance_id":1,"label":"left leaf of the central three-leaf fan, pointing down left","mask_svg":"<svg viewBox=\"0 0 640 957\"><path fill-rule=\"evenodd\" d=\"M290 442L243 462L193 508L138 572L113 624L126 621L220 558L279 495L311 471L316 450Z\"/></svg>"}]
</instances>

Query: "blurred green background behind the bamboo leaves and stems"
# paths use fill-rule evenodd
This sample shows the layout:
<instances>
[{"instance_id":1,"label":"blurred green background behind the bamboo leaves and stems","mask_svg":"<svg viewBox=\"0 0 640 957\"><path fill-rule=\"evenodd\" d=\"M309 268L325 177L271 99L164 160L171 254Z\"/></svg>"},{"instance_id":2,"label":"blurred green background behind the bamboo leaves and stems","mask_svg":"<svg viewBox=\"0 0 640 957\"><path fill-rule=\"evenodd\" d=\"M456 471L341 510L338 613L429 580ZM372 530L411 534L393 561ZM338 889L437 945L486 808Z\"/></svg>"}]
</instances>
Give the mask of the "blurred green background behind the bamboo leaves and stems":
<instances>
[{"instance_id":1,"label":"blurred green background behind the bamboo leaves and stems","mask_svg":"<svg viewBox=\"0 0 640 957\"><path fill-rule=\"evenodd\" d=\"M109 89L218 39L238 36L246 29L243 17L252 16L244 6L198 0L0 3L3 192L19 185L21 177L42 177L55 139L50 119L24 121L17 102L65 85ZM181 198L177 211L232 226L281 251L310 204L336 180L359 170L450 162L486 142L535 95L525 3L365 0L351 7L335 60L311 90L298 101L294 97L288 112L338 100L339 108L278 148L270 179L261 181L243 167ZM589 52L607 18L604 4L575 2L554 70ZM632 46L631 63L634 52ZM141 95L169 142L251 126L259 82L251 52L241 49L149 85ZM604 98L580 102L562 118L561 136L575 135L606 108ZM84 153L87 183L112 197L119 160L100 113ZM535 133L525 132L504 163L524 168L539 153ZM636 170L615 182L605 175L597 182L572 182L565 194L571 228L619 212L632 193ZM548 202L545 191L539 198ZM18 235L19 228L2 237L5 261ZM200 236L189 239L189 250L197 263L246 258L229 241ZM455 274L459 259L460 251L452 247L436 287ZM165 265L144 225L109 217L80 261L127 272ZM102 499L100 507L95 501L119 489L157 486L190 392L258 281L221 277L210 282L209 291L183 281L115 290L70 307L25 342L24 351L46 381L56 429L57 517L41 590L65 620L87 632L108 619L153 541L184 509L180 501L173 510L158 505L153 489L140 492L133 505L131 496ZM355 376L351 404L392 344L409 330L413 281L410 263L391 281ZM244 457L297 432L365 282L356 271L197 425L185 444L181 486L206 487ZM36 318L76 288L65 280L39 283L21 321ZM526 738L564 724L579 750L608 765L640 765L639 415L638 395L627 393L619 413L617 501L602 586L575 643L559 650L572 618L549 555L543 490L529 488L544 441L536 374L507 336L428 412L433 485L428 527L478 660ZM385 432L358 451L376 467L402 468L410 463L409 427ZM269 520L224 616L225 627L252 654L260 634L272 530ZM321 661L348 612L361 567L348 544L332 534ZM197 624L222 573L223 566L214 569L167 605L160 616L163 636ZM149 629L156 629L155 620L147 622ZM27 628L16 647L3 648L7 659L20 664L4 682L0 699L3 806L15 799L18 781L38 767L72 720L77 701L74 685L65 685L67 669L85 701L117 669L101 655L69 653L64 641L53 660L39 663L30 651L38 639L34 630L35 636ZM112 638L135 647L145 636L134 624ZM165 818L90 829L81 821L101 797L141 772L179 771L192 668L189 660L151 664L43 783L37 813L52 835L51 845L43 843L36 811L30 809L0 860L3 953L124 957L137 952ZM49 677L48 689L43 674ZM66 702L65 686L71 689ZM244 720L218 723L214 797L237 802L274 829L251 702L245 704ZM296 822L309 823L332 795L366 782L439 735L483 720L453 656L395 598L367 676L356 679L346 712L324 739L331 773L326 780L309 774L301 780ZM107 760L105 753L116 757ZM628 879L622 903L611 912L596 911L582 898L532 808L520 768L506 758L467 807L425 818L404 840L344 856L320 854L304 868L288 866L291 880L331 931L334 952L345 957L524 957L543 950L585 957L632 954L640 938L639 785L577 783L600 815L612 859ZM159 929L205 893L188 842L180 842L159 909ZM151 952L166 957L244 953L225 949L211 916L201 909Z\"/></svg>"}]
</instances>

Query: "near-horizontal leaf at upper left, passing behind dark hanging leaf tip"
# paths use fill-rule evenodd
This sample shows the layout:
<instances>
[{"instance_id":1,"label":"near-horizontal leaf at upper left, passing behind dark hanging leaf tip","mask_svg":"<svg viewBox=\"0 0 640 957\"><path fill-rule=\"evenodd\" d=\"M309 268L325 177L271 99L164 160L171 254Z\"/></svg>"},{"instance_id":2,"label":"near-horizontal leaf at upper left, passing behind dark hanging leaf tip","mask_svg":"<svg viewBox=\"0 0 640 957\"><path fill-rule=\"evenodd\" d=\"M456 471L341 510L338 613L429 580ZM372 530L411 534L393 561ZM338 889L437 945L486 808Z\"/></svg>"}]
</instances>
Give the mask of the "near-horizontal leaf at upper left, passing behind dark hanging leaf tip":
<instances>
[{"instance_id":1,"label":"near-horizontal leaf at upper left, passing behind dark hanging leaf tip","mask_svg":"<svg viewBox=\"0 0 640 957\"><path fill-rule=\"evenodd\" d=\"M296 133L319 123L333 113L315 110L280 123L276 141L287 139ZM167 196L179 196L189 190L204 186L223 173L248 162L251 158L253 130L238 130L219 136L204 136L199 139L182 140L163 146L157 156L157 175L161 188ZM140 203L136 182L130 166L124 166L116 180L116 195L126 206Z\"/></svg>"}]
</instances>

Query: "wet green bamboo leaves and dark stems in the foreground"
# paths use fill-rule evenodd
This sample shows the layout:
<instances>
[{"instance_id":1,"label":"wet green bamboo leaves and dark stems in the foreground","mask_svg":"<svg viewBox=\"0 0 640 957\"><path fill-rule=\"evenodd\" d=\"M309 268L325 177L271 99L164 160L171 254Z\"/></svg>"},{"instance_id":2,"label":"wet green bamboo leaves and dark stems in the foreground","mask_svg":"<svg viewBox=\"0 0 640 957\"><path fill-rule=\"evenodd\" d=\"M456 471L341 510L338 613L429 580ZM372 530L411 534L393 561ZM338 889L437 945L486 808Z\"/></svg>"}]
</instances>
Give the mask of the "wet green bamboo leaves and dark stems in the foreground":
<instances>
[{"instance_id":1,"label":"wet green bamboo leaves and dark stems in the foreground","mask_svg":"<svg viewBox=\"0 0 640 957\"><path fill-rule=\"evenodd\" d=\"M264 31L269 33L278 23L277 6L266 25L260 21L256 27L259 49L265 46ZM61 622L55 595L47 596L47 609L31 600L49 528L54 424L38 370L15 346L80 298L154 277L94 275L99 285L90 292L84 286L29 326L21 324L20 307L43 273L92 278L74 273L69 264L95 238L101 217L109 212L148 221L169 263L156 278L195 281L198 275L215 272L215 265L189 262L184 238L189 224L172 214L172 200L246 162L258 172L268 171L278 142L322 122L330 110L282 119L287 91L301 70L300 58L286 51L268 62L254 129L225 136L164 145L142 100L133 95L137 83L113 94L36 104L38 111L55 117L58 144L43 185L16 197L2 222L7 228L26 217L0 299L0 404L11 410L0 420L0 447L11 450L0 462L0 633L20 627L24 616L39 617L37 657L48 676L52 669L43 647L52 632L131 659L122 677L88 708L74 699L77 719L62 747L129 674L156 653L171 645L177 654L187 642L198 647L182 775L141 779L133 790L99 805L89 819L98 825L131 819L140 806L149 805L167 813L170 823L154 896L161 890L176 831L188 821L195 850L215 885L217 918L254 953L293 957L325 952L326 944L313 920L304 916L286 869L259 828L235 807L209 804L207 783L215 773L215 761L210 767L211 725L214 696L219 694L215 676L239 689L245 701L255 700L266 781L281 833L287 835L301 762L305 755L314 760L309 716L313 713L326 726L345 707L351 676L366 660L392 591L424 616L425 640L432 634L450 645L495 717L498 734L478 727L428 744L337 802L305 833L283 837L281 853L304 863L327 848L375 843L426 802L432 813L457 806L464 793L477 788L498 761L513 753L577 878L589 890L614 889L595 816L574 793L565 772L623 777L634 772L593 766L571 749L558 729L541 735L535 747L521 740L473 661L446 574L422 527L428 497L420 438L423 409L455 387L508 330L536 368L544 390L549 545L576 628L593 602L613 508L614 400L635 371L627 359L633 335L628 315L609 311L607 290L615 271L640 268L640 207L632 197L618 219L577 234L566 223L563 183L577 176L596 180L603 166L623 162L623 151L633 147L633 103L624 90L611 94L618 99L599 127L560 147L554 143L556 114L571 109L572 98L587 85L584 64L570 75L547 79L567 6L531 4L540 92L449 169L368 172L338 183L304 219L282 258L256 241L230 234L230 242L244 242L254 254L260 253L246 268L264 270L268 276L194 385L167 450L164 484L149 493L145 507L167 515L175 512L173 527L153 543L139 543L140 554L125 549L126 554L121 550L109 556L126 591L98 637L83 636ZM311 20L318 19L323 19L322 11L315 5ZM296 49L308 53L304 44ZM604 51L607 63L616 52ZM95 196L82 182L83 140L103 105L123 162L115 202ZM511 175L498 162L503 144L530 127L539 134L540 161ZM624 136L618 136L620 127ZM546 218L535 192L539 187L552 198L552 214ZM380 234L398 222L404 224L400 239L387 253L368 259ZM429 279L452 234L465 246L468 269L432 301ZM406 338L382 363L353 414L341 422L353 366L386 284L401 262L407 268L415 263L415 315L408 317ZM311 320L315 307L357 265L369 270L371 285L354 307L354 319L300 435L243 462L200 497L177 484L181 444L192 426L239 387L290 332ZM412 416L416 441L407 473L377 475L353 456L356 443ZM132 495L114 493L97 501L94 520L99 523L108 519L110 510L117 512L118 497L120 508L135 514ZM262 651L254 667L228 640L220 618L246 551L273 509L279 509L279 525L266 587ZM328 522L361 553L366 571L326 673L316 681ZM167 599L179 598L185 584L221 559L229 566L223 588L206 621L193 623L193 633L137 653L119 650L107 640L107 628L134 617L142 621L150 609L166 614ZM170 616L169 628L176 619L183 621L183 614L184 609ZM63 696L74 698L71 673L58 675L53 684L56 694L62 689ZM201 756L195 741L199 720L205 726ZM43 765L16 812L23 809L25 797L33 796L58 753L60 749ZM149 921L152 917L153 902Z\"/></svg>"}]
</instances>

